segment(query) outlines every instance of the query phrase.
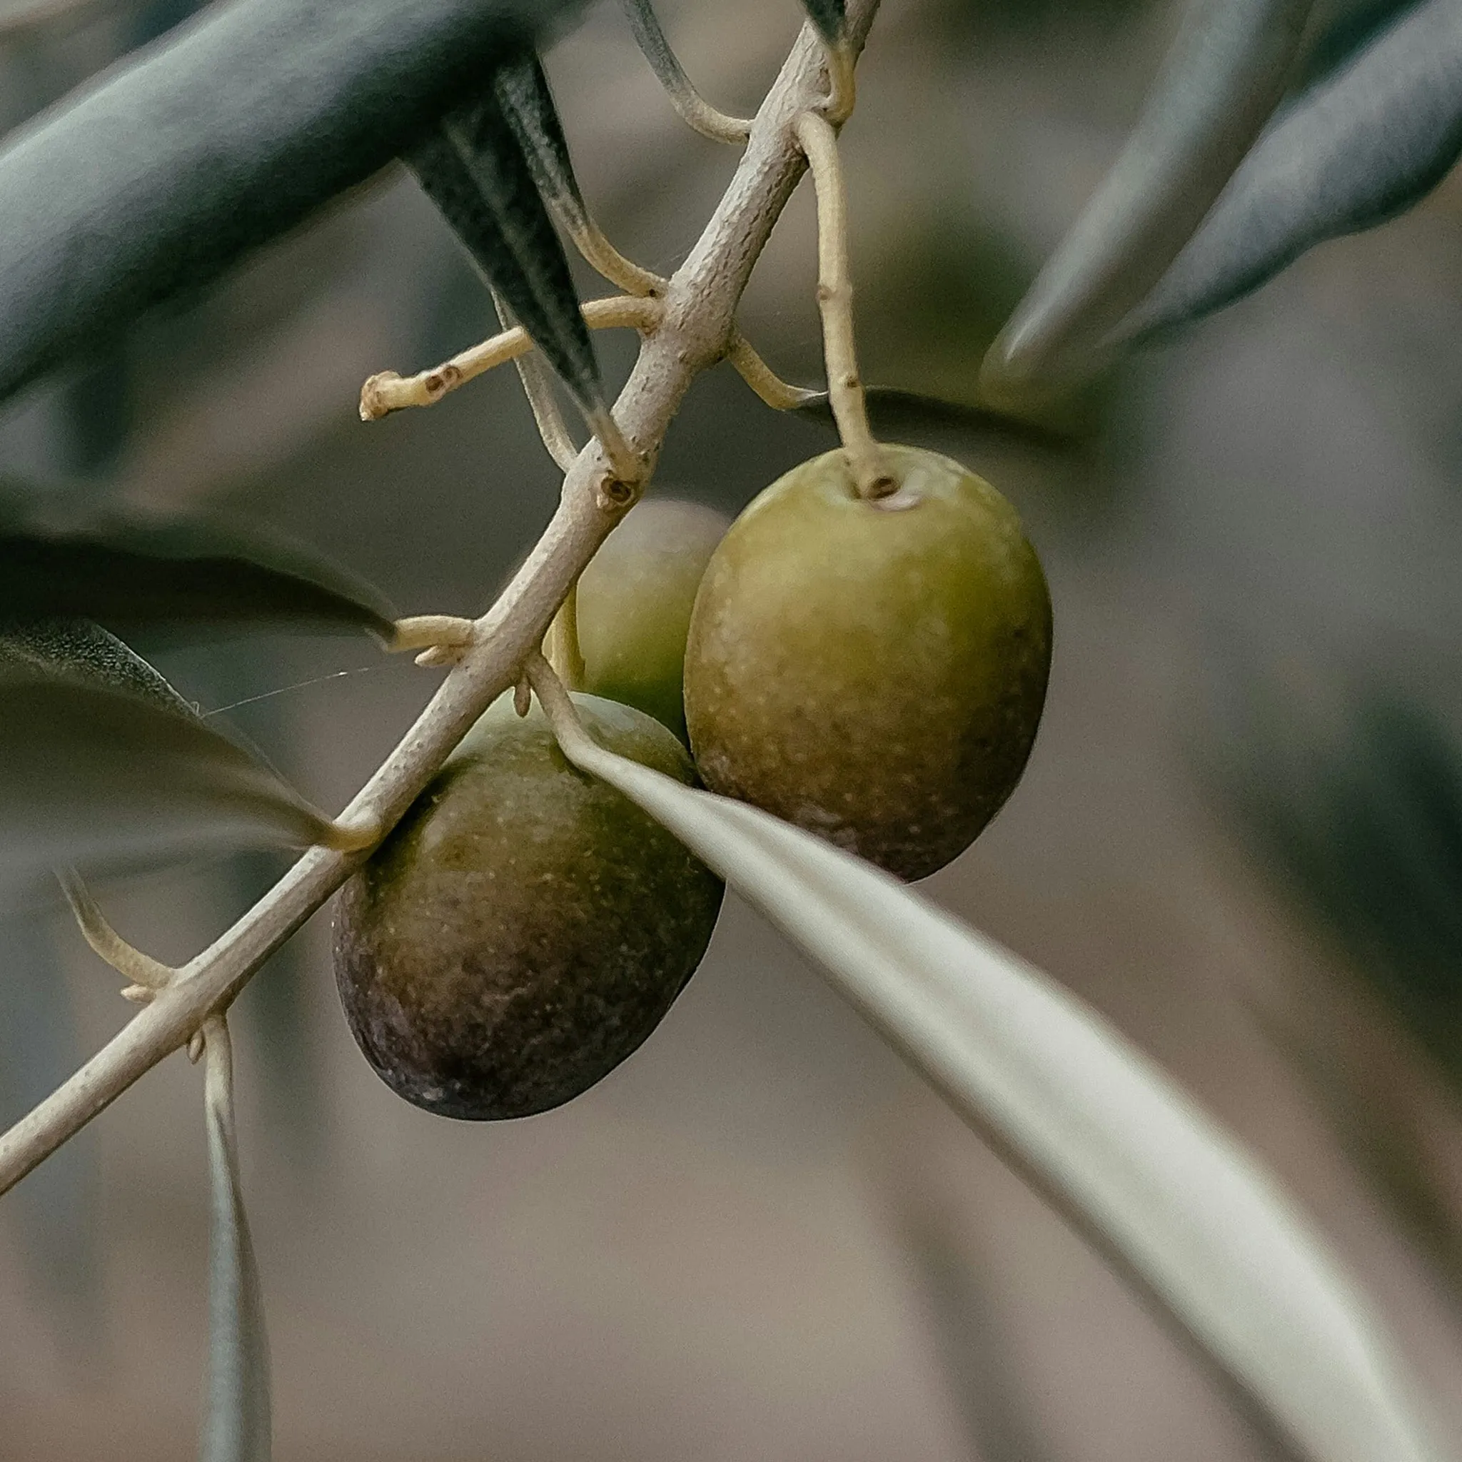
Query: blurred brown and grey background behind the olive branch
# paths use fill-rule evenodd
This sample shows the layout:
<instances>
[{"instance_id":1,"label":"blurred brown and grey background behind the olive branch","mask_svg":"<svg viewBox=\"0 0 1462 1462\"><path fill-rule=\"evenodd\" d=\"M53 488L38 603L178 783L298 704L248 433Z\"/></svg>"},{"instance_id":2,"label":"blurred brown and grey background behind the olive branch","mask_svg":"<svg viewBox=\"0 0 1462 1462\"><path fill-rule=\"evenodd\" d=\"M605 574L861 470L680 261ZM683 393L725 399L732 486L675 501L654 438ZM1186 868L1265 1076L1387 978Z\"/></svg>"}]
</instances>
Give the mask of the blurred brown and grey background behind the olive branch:
<instances>
[{"instance_id":1,"label":"blurred brown and grey background behind the olive branch","mask_svg":"<svg viewBox=\"0 0 1462 1462\"><path fill-rule=\"evenodd\" d=\"M98 4L0 29L9 121L184 10ZM708 96L743 111L798 23L791 0L659 10ZM969 398L1173 20L1143 0L887 0L844 149L871 380ZM671 268L732 155L675 121L613 4L548 64L607 231ZM1057 613L1025 782L928 892L1094 1001L1282 1174L1455 1423L1459 228L1453 178L1325 246L1095 392L1077 447L921 436L1016 501ZM813 243L798 196L743 314L801 380L820 373ZM0 468L58 499L225 507L405 613L472 611L557 490L515 377L371 427L355 393L471 344L488 316L392 173L6 408ZM626 339L599 345L623 371ZM722 368L687 402L656 490L734 510L827 444ZM158 661L209 709L250 702L230 718L330 807L434 683L348 640ZM102 901L132 940L184 958L272 871L221 861ZM118 1028L114 990L54 914L6 927L7 1117ZM235 1023L282 1462L1272 1455L734 899L646 1047L522 1123L443 1121L374 1079L336 1009L325 914ZM170 1060L0 1205L4 1462L193 1453L200 1089Z\"/></svg>"}]
</instances>

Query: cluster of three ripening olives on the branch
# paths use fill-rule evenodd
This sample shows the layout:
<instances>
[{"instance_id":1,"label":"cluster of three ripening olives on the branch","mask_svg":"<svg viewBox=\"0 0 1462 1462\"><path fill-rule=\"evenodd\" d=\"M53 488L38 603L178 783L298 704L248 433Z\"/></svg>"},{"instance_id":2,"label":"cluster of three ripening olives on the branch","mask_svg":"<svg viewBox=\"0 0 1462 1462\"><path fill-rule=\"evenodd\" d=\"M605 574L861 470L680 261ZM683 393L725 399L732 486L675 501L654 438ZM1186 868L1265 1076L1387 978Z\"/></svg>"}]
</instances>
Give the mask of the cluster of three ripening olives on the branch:
<instances>
[{"instance_id":1,"label":"cluster of three ripening olives on the branch","mask_svg":"<svg viewBox=\"0 0 1462 1462\"><path fill-rule=\"evenodd\" d=\"M1051 605L1010 504L958 462L844 452L727 528L646 501L577 591L575 703L621 756L917 879L1025 768ZM689 740L689 751L686 741ZM659 1023L705 953L719 879L576 770L542 712L494 703L342 892L335 968L376 1072L449 1117L547 1111Z\"/></svg>"}]
</instances>

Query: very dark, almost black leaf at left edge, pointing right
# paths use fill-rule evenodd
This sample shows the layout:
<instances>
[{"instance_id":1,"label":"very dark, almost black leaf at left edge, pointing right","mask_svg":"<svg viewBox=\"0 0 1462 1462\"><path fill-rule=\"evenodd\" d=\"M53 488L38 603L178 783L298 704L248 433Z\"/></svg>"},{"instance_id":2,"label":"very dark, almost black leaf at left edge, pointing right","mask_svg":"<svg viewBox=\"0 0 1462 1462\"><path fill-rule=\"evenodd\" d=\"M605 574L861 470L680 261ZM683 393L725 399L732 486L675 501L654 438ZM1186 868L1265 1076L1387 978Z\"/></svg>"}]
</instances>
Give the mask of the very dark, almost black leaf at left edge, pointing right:
<instances>
[{"instance_id":1,"label":"very dark, almost black leaf at left edge, pointing right","mask_svg":"<svg viewBox=\"0 0 1462 1462\"><path fill-rule=\"evenodd\" d=\"M270 563L269 560L273 560ZM392 635L373 594L294 545L205 523L47 532L0 523L0 620Z\"/></svg>"}]
</instances>

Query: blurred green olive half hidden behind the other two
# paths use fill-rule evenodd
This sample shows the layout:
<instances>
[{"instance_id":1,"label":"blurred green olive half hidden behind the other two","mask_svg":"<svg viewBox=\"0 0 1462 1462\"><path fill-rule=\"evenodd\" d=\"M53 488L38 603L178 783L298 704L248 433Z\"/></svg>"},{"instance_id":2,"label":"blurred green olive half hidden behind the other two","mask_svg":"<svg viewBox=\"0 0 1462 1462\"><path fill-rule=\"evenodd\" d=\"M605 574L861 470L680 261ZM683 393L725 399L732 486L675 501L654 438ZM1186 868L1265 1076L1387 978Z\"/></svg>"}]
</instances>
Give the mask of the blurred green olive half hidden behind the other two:
<instances>
[{"instance_id":1,"label":"blurred green olive half hidden behind the other two","mask_svg":"<svg viewBox=\"0 0 1462 1462\"><path fill-rule=\"evenodd\" d=\"M649 499L610 534L579 579L583 689L686 735L681 667L696 589L730 519Z\"/></svg>"}]
</instances>

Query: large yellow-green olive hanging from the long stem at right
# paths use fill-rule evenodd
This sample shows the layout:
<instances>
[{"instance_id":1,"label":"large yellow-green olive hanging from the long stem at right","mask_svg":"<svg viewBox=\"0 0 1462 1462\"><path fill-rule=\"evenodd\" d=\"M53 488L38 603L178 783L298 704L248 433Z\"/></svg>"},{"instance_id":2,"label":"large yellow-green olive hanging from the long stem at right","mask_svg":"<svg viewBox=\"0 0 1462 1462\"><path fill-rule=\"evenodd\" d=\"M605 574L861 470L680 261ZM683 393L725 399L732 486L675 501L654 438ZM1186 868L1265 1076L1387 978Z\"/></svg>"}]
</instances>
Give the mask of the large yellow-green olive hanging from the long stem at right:
<instances>
[{"instance_id":1,"label":"large yellow-green olive hanging from the long stem at right","mask_svg":"<svg viewBox=\"0 0 1462 1462\"><path fill-rule=\"evenodd\" d=\"M686 715L712 791L920 879L1025 769L1051 599L988 482L934 452L883 452L890 496L860 499L829 452L722 538L690 621Z\"/></svg>"}]
</instances>

